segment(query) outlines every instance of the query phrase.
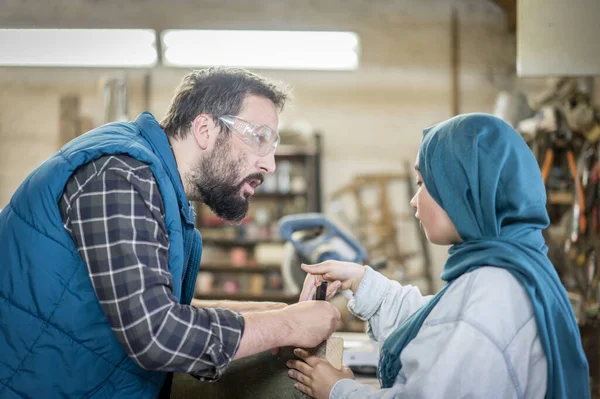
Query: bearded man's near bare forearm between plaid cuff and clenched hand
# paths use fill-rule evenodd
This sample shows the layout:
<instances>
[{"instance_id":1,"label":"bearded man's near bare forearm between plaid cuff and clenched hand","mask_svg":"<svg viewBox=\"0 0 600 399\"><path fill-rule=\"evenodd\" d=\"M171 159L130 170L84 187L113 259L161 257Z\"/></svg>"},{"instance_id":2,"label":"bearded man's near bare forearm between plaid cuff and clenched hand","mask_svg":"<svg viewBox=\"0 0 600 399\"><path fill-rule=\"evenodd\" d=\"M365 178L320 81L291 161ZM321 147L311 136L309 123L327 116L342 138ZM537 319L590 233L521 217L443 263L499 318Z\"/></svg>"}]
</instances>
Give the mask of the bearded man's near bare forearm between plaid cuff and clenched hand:
<instances>
[{"instance_id":1,"label":"bearded man's near bare forearm between plaid cuff and clenched hand","mask_svg":"<svg viewBox=\"0 0 600 399\"><path fill-rule=\"evenodd\" d=\"M280 310L244 314L244 334L233 359L265 352L272 348L288 346L293 331Z\"/></svg>"}]
</instances>

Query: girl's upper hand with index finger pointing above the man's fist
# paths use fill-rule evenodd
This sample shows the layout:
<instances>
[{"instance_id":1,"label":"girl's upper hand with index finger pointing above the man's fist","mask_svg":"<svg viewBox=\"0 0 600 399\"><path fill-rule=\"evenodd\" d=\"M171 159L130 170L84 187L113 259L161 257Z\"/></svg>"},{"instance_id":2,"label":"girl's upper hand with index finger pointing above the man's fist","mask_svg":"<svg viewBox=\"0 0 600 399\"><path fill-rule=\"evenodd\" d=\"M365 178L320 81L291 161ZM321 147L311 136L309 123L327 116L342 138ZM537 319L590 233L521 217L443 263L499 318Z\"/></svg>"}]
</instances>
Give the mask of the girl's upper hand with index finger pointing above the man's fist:
<instances>
[{"instance_id":1,"label":"girl's upper hand with index finger pointing above the man's fist","mask_svg":"<svg viewBox=\"0 0 600 399\"><path fill-rule=\"evenodd\" d=\"M304 286L300 293L300 301L312 299L317 286L322 281L328 281L327 298L332 297L339 290L352 290L356 292L363 276L365 267L357 263L328 260L316 265L302 265L302 270L307 272Z\"/></svg>"}]
</instances>

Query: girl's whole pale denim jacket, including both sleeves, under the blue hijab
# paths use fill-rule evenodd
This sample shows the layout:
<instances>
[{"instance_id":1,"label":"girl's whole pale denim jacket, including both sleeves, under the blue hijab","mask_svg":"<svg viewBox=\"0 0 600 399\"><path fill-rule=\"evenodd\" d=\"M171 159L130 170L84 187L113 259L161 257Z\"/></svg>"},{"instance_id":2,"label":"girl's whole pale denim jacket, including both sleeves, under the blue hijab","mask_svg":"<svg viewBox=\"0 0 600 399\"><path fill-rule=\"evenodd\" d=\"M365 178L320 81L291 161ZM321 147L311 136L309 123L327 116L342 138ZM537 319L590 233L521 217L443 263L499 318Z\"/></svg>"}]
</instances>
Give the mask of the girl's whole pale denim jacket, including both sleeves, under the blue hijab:
<instances>
[{"instance_id":1,"label":"girl's whole pale denim jacket, including both sleeves, under the blue hijab","mask_svg":"<svg viewBox=\"0 0 600 399\"><path fill-rule=\"evenodd\" d=\"M369 322L369 336L385 339L432 296L367 267L348 304ZM547 361L531 301L506 270L481 267L459 277L400 355L394 386L374 389L338 381L330 399L544 398Z\"/></svg>"}]
</instances>

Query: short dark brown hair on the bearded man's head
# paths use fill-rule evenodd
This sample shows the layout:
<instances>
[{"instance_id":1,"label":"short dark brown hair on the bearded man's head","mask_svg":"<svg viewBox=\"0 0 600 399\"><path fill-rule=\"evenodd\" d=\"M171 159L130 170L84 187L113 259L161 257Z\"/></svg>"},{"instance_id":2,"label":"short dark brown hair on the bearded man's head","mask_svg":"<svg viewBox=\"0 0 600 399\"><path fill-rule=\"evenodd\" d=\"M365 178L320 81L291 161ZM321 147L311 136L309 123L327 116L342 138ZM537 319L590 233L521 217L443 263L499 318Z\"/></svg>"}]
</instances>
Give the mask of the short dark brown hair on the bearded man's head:
<instances>
[{"instance_id":1,"label":"short dark brown hair on the bearded man's head","mask_svg":"<svg viewBox=\"0 0 600 399\"><path fill-rule=\"evenodd\" d=\"M240 68L212 67L194 71L183 78L160 126L172 138L187 136L193 120L201 113L218 120L237 115L246 96L268 98L281 111L288 92L280 83Z\"/></svg>"}]
</instances>

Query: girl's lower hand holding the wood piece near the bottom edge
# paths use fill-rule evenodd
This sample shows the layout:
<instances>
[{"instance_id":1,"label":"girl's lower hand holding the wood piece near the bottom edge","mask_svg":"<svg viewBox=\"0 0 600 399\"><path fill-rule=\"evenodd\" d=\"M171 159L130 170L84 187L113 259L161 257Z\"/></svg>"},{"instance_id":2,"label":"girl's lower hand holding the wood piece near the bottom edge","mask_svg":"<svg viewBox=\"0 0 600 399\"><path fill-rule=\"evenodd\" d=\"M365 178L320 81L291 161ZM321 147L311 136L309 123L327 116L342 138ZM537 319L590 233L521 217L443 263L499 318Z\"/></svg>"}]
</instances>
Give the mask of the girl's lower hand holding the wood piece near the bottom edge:
<instances>
[{"instance_id":1,"label":"girl's lower hand holding the wood piece near the bottom edge","mask_svg":"<svg viewBox=\"0 0 600 399\"><path fill-rule=\"evenodd\" d=\"M294 386L300 392L315 399L328 399L331 389L339 380L354 379L348 367L342 370L333 367L327 360L319 359L303 349L294 349L294 354L302 360L288 360L288 375L296 380Z\"/></svg>"}]
</instances>

